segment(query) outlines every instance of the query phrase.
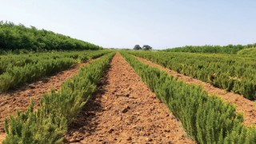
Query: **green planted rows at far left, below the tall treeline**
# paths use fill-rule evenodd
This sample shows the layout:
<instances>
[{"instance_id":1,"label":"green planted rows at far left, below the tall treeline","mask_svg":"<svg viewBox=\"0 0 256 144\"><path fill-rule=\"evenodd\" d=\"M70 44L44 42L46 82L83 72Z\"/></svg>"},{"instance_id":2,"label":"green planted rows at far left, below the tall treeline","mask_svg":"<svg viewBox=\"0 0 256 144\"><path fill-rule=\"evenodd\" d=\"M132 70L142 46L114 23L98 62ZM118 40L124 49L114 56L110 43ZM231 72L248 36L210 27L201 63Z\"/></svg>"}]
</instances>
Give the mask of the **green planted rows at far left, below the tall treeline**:
<instances>
[{"instance_id":1,"label":"green planted rows at far left, below the tall treeline","mask_svg":"<svg viewBox=\"0 0 256 144\"><path fill-rule=\"evenodd\" d=\"M0 92L97 58L108 50L6 55L0 57Z\"/></svg>"}]
</instances>

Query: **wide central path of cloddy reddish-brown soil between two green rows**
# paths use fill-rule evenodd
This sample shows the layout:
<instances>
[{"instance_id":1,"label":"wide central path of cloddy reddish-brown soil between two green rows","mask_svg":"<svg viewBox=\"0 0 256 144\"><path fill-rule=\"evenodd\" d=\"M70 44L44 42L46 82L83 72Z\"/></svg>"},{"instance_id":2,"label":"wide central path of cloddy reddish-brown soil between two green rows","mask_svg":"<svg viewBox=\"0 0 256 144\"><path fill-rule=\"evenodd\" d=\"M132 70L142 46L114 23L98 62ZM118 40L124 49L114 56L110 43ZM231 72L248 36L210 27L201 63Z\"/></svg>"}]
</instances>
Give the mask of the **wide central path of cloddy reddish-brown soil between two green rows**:
<instances>
[{"instance_id":1,"label":"wide central path of cloddy reddish-brown soil between two green rows","mask_svg":"<svg viewBox=\"0 0 256 144\"><path fill-rule=\"evenodd\" d=\"M195 143L181 123L116 54L66 143Z\"/></svg>"}]
</instances>

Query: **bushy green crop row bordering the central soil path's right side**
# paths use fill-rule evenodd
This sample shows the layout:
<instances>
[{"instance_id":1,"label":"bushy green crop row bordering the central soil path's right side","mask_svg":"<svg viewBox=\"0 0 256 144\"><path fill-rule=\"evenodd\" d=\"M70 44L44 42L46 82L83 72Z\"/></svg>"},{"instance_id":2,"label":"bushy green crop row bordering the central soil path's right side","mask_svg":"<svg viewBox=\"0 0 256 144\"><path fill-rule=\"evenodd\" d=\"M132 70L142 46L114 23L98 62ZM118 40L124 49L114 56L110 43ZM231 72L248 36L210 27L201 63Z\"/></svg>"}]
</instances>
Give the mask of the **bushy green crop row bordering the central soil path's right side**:
<instances>
[{"instance_id":1,"label":"bushy green crop row bordering the central soil path's right side","mask_svg":"<svg viewBox=\"0 0 256 144\"><path fill-rule=\"evenodd\" d=\"M256 129L243 126L242 114L236 114L234 106L208 96L200 86L188 85L147 66L130 54L122 55L198 143L255 142Z\"/></svg>"}]
</instances>

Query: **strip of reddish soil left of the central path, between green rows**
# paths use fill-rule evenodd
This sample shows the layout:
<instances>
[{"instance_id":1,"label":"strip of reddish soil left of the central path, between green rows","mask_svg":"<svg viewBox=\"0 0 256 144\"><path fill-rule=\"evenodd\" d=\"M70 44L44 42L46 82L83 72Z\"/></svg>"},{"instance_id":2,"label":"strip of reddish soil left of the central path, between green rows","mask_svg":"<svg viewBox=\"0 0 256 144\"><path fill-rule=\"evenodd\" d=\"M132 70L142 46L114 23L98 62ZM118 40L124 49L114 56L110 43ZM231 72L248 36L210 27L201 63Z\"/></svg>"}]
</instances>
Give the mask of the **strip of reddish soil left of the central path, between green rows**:
<instances>
[{"instance_id":1,"label":"strip of reddish soil left of the central path, between green rows","mask_svg":"<svg viewBox=\"0 0 256 144\"><path fill-rule=\"evenodd\" d=\"M88 62L92 61L93 60L89 60ZM72 66L69 70L59 72L50 78L43 78L30 85L22 86L18 90L0 94L0 142L2 142L1 138L4 135L2 133L4 133L3 121L5 118L8 118L10 114L15 114L16 110L26 110L27 106L30 104L30 98L34 98L35 106L38 106L42 94L49 93L51 88L59 90L62 83L65 82L67 78L72 78L74 74L78 74L79 68L85 66L86 63Z\"/></svg>"}]
</instances>

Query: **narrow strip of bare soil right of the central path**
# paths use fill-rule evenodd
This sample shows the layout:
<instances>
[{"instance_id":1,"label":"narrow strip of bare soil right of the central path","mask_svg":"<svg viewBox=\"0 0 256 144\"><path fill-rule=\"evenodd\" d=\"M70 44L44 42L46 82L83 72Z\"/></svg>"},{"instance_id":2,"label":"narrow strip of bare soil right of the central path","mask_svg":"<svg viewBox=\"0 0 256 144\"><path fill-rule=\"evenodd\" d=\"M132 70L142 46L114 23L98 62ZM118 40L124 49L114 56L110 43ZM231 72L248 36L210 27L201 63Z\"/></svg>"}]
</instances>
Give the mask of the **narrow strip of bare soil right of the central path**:
<instances>
[{"instance_id":1,"label":"narrow strip of bare soil right of the central path","mask_svg":"<svg viewBox=\"0 0 256 144\"><path fill-rule=\"evenodd\" d=\"M138 57L136 57L138 58ZM210 85L210 83L202 82L195 78L190 78L188 76L185 76L183 74L178 74L174 70L169 70L163 66L160 66L158 64L155 64L154 62L150 62L149 60L146 60L144 58L138 58L141 62L144 62L150 66L154 66L160 70L166 71L170 75L174 75L178 77L178 79L190 83L190 84L196 84L201 85L203 90L206 90L208 94L214 94L226 102L232 103L234 106L236 106L237 112L241 112L244 115L244 124L245 126L254 126L256 122L256 108L253 101L250 101L249 99L246 99L242 97L242 95L234 94L233 92L227 92L226 90L222 90L220 88L214 87Z\"/></svg>"}]
</instances>

